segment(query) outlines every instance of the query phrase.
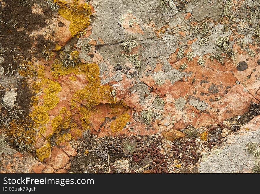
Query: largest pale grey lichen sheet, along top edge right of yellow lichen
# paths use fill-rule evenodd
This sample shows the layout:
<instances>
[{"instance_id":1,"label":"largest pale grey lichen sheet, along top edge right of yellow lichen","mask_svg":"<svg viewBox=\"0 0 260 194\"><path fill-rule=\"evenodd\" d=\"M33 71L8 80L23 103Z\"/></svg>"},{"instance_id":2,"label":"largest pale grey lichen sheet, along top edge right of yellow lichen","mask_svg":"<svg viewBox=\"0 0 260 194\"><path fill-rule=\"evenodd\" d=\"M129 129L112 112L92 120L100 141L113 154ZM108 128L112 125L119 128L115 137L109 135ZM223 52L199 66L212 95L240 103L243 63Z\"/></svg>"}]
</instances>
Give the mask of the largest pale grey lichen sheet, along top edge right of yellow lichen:
<instances>
[{"instance_id":1,"label":"largest pale grey lichen sheet, along top edge right of yellow lichen","mask_svg":"<svg viewBox=\"0 0 260 194\"><path fill-rule=\"evenodd\" d=\"M157 28L163 27L178 12L176 6L172 2L171 9L163 12L160 9L159 0L151 1L103 1L93 0L92 4L97 12L95 23L93 24L92 34L93 40L102 38L105 43L111 44L121 42L125 39L125 29L122 26L126 14L133 15L136 19L130 19L128 25L133 21L138 22L139 27L144 31L148 29L146 26L150 21L154 21ZM134 6L133 6L134 5ZM147 36L146 33L144 36ZM153 34L151 33L151 36Z\"/></svg>"}]
</instances>

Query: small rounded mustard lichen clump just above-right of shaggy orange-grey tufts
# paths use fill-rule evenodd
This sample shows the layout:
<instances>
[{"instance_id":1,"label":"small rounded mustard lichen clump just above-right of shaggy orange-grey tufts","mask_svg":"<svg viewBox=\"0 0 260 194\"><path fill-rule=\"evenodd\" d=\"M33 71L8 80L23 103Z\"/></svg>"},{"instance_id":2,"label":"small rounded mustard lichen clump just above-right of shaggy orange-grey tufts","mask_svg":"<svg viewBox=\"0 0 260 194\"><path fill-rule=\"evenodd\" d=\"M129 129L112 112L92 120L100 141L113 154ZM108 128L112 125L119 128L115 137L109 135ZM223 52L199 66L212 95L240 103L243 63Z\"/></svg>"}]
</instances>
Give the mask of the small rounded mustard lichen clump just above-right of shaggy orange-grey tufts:
<instances>
[{"instance_id":1,"label":"small rounded mustard lichen clump just above-right of shaggy orange-grey tufts","mask_svg":"<svg viewBox=\"0 0 260 194\"><path fill-rule=\"evenodd\" d=\"M45 106L36 106L34 110L29 114L29 116L34 121L36 127L40 125L45 125L50 120L47 113L47 108Z\"/></svg>"}]
</instances>

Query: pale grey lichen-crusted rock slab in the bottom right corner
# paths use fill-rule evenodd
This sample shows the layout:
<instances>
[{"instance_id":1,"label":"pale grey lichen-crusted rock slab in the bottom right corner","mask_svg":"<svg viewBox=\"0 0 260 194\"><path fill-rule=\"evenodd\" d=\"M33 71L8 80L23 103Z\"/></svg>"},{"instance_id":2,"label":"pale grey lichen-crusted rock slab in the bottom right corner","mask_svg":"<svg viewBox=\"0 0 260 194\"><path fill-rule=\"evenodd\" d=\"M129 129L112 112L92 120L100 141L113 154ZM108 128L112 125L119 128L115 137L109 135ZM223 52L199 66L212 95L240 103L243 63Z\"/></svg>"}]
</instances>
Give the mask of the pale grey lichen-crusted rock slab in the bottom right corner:
<instances>
[{"instance_id":1,"label":"pale grey lichen-crusted rock slab in the bottom right corner","mask_svg":"<svg viewBox=\"0 0 260 194\"><path fill-rule=\"evenodd\" d=\"M254 156L246 149L248 142L260 141L260 129L228 135L222 144L208 153L199 166L200 173L252 173Z\"/></svg>"}]
</instances>

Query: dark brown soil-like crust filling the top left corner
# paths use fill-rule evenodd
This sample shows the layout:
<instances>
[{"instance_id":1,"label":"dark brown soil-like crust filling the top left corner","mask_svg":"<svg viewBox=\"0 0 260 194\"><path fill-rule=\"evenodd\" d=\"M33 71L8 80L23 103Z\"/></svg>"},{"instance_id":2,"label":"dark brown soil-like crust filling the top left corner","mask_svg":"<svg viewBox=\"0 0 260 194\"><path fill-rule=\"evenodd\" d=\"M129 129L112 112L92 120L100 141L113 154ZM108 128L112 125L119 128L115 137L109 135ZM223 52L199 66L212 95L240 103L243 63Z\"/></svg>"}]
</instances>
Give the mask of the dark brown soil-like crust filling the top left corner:
<instances>
[{"instance_id":1,"label":"dark brown soil-like crust filling the top left corner","mask_svg":"<svg viewBox=\"0 0 260 194\"><path fill-rule=\"evenodd\" d=\"M40 7L43 10L43 14L33 14L31 7L22 7L18 4L18 1L4 0L4 7L0 7L0 17L3 17L0 25L1 37L0 47L8 48L5 53L4 62L1 66L7 71L9 66L12 69L17 69L17 66L21 62L18 59L31 60L31 53L29 49L32 48L35 42L30 38L27 33L32 30L43 28L47 25L45 20L52 15L51 9L44 5L45 1L38 1ZM38 47L36 52L43 49Z\"/></svg>"}]
</instances>

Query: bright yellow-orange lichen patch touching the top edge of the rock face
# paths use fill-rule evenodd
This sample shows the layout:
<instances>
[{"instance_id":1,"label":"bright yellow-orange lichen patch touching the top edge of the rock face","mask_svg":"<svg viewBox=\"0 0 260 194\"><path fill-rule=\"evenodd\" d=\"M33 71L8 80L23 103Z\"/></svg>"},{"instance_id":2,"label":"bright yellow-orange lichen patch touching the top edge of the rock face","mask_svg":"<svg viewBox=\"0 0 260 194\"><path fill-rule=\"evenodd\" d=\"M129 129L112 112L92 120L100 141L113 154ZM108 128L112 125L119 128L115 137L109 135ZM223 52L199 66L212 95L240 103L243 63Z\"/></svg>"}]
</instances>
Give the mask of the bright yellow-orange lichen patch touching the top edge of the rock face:
<instances>
[{"instance_id":1,"label":"bright yellow-orange lichen patch touching the top edge of the rock face","mask_svg":"<svg viewBox=\"0 0 260 194\"><path fill-rule=\"evenodd\" d=\"M79 5L79 0L74 0L70 7L62 0L54 0L60 6L58 13L70 21L69 31L71 37L78 35L89 24L91 7L87 3Z\"/></svg>"}]
</instances>

